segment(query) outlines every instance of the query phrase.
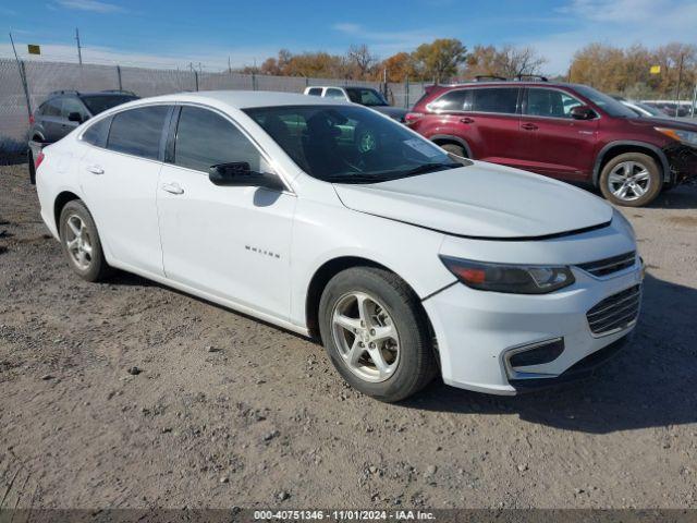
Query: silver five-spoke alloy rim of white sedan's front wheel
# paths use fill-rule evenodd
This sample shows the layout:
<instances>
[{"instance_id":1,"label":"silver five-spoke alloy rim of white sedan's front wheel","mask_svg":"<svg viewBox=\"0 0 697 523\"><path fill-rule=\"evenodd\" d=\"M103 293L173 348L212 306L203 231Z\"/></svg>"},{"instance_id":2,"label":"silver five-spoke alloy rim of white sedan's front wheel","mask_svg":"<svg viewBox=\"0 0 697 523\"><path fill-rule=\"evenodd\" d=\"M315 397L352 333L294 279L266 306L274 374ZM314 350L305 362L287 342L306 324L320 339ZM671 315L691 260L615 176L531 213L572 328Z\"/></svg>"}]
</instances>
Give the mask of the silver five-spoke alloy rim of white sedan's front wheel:
<instances>
[{"instance_id":1,"label":"silver five-spoke alloy rim of white sedan's front wheel","mask_svg":"<svg viewBox=\"0 0 697 523\"><path fill-rule=\"evenodd\" d=\"M384 381L400 363L400 338L384 306L365 292L338 300L332 332L341 357L360 379Z\"/></svg>"}]
</instances>

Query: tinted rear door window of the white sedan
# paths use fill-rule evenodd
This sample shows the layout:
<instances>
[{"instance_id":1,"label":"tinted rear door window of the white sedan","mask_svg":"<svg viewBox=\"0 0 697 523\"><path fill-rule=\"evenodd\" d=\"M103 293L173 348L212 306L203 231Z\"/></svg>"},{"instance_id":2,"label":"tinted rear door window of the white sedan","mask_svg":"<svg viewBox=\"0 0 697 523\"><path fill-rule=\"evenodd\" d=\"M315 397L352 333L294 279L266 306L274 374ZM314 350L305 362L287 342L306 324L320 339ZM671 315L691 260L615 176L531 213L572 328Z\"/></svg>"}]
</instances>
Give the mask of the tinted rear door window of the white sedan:
<instances>
[{"instance_id":1,"label":"tinted rear door window of the white sedan","mask_svg":"<svg viewBox=\"0 0 697 523\"><path fill-rule=\"evenodd\" d=\"M160 154L168 106L150 106L114 114L107 148L156 160Z\"/></svg>"}]
</instances>

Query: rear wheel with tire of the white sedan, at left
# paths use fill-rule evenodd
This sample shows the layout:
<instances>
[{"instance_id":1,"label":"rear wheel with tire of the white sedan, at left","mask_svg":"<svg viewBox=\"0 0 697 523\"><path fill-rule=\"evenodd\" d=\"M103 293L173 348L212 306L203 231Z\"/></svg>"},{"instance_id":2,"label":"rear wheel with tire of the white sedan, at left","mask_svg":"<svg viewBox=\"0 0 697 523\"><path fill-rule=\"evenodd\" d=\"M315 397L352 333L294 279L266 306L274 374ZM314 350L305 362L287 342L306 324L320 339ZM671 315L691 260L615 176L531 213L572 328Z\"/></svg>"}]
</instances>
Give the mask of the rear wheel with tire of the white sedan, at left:
<instances>
[{"instance_id":1,"label":"rear wheel with tire of the white sedan, at left","mask_svg":"<svg viewBox=\"0 0 697 523\"><path fill-rule=\"evenodd\" d=\"M82 200L65 204L59 219L59 233L63 253L77 276L86 281L101 281L109 276L110 267L105 259L97 226Z\"/></svg>"}]
</instances>

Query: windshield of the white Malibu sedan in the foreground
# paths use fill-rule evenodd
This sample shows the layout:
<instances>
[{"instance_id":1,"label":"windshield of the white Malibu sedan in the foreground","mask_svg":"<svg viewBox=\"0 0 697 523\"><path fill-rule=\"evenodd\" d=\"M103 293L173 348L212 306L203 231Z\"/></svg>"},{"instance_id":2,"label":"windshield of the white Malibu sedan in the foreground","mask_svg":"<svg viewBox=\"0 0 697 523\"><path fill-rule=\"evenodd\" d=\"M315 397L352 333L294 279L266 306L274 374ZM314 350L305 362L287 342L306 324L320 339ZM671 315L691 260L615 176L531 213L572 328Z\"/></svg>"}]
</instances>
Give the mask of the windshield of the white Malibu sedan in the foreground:
<instances>
[{"instance_id":1,"label":"windshield of the white Malibu sedan in the foreground","mask_svg":"<svg viewBox=\"0 0 697 523\"><path fill-rule=\"evenodd\" d=\"M362 107L283 106L245 112L305 172L327 182L378 183L463 165L403 125Z\"/></svg>"}]
</instances>

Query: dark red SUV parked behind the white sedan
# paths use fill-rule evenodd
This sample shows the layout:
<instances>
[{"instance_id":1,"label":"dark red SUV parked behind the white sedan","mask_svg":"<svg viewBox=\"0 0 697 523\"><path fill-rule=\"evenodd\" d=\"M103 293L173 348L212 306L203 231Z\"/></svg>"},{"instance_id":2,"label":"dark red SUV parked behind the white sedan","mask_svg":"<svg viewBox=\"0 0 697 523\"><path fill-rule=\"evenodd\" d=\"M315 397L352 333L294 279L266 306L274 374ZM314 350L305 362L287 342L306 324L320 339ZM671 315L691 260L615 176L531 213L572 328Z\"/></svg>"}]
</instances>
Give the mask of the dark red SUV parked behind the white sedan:
<instances>
[{"instance_id":1,"label":"dark red SUV parked behind the white sedan","mask_svg":"<svg viewBox=\"0 0 697 523\"><path fill-rule=\"evenodd\" d=\"M445 150L567 181L632 207L697 174L697 124L639 118L586 85L437 85L406 124Z\"/></svg>"}]
</instances>

